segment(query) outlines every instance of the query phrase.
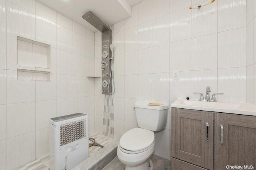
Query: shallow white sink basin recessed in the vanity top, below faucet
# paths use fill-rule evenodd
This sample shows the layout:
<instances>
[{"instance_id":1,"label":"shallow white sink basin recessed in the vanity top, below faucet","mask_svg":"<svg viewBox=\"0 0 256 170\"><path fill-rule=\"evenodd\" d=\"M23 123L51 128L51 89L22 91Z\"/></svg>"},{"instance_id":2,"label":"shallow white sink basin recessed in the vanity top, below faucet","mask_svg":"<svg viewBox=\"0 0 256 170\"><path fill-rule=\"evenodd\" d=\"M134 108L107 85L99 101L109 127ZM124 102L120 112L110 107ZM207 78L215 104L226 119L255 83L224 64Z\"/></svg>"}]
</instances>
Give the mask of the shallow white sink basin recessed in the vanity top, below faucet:
<instances>
[{"instance_id":1,"label":"shallow white sink basin recessed in the vanity top, below faucet","mask_svg":"<svg viewBox=\"0 0 256 170\"><path fill-rule=\"evenodd\" d=\"M194 100L182 100L186 105L190 106L202 106L202 107L217 107L217 108L227 108L227 109L236 109L240 104L236 103L224 103L224 102L202 102Z\"/></svg>"}]
</instances>

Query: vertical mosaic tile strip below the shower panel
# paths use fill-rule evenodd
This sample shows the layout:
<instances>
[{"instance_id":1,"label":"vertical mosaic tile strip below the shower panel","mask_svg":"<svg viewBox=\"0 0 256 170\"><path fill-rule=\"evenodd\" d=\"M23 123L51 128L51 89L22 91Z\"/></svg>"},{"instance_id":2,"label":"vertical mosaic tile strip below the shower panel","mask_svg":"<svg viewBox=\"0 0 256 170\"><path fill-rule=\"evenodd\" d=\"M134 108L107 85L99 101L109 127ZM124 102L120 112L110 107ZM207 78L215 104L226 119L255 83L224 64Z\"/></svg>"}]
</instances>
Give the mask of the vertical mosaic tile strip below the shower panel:
<instances>
[{"instance_id":1,"label":"vertical mosaic tile strip below the shower panel","mask_svg":"<svg viewBox=\"0 0 256 170\"><path fill-rule=\"evenodd\" d=\"M113 96L104 94L103 135L114 139L114 105Z\"/></svg>"}]
</instances>

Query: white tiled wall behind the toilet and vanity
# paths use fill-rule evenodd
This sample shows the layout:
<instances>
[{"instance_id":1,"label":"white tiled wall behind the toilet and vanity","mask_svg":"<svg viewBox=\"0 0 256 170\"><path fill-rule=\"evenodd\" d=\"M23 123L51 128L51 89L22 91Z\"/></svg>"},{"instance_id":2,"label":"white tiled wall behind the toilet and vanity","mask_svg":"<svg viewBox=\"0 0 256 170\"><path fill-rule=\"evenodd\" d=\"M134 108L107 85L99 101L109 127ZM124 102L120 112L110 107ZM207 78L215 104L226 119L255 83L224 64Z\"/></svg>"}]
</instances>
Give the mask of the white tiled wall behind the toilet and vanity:
<instances>
[{"instance_id":1,"label":"white tiled wall behind the toilet and vanity","mask_svg":"<svg viewBox=\"0 0 256 170\"><path fill-rule=\"evenodd\" d=\"M246 102L246 0L189 9L209 2L144 0L132 7L131 18L114 24L115 137L137 126L135 102L198 100L193 92L205 94L206 86L224 93L220 101ZM173 80L173 70L179 70L179 80ZM170 111L155 149L168 159L169 117Z\"/></svg>"}]
</instances>

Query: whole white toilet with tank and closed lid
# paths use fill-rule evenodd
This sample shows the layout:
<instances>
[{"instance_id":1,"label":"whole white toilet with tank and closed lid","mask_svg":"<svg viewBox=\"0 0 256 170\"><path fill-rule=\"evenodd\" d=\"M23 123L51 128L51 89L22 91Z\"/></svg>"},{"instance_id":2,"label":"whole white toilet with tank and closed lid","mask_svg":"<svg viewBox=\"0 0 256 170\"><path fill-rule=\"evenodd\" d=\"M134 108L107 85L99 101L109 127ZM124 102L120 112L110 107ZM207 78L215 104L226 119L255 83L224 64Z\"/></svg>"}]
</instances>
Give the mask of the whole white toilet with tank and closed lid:
<instances>
[{"instance_id":1,"label":"whole white toilet with tank and closed lid","mask_svg":"<svg viewBox=\"0 0 256 170\"><path fill-rule=\"evenodd\" d=\"M148 106L137 102L135 108L138 127L122 135L117 156L126 165L126 170L152 170L150 156L155 149L154 132L165 128L168 105Z\"/></svg>"}]
</instances>

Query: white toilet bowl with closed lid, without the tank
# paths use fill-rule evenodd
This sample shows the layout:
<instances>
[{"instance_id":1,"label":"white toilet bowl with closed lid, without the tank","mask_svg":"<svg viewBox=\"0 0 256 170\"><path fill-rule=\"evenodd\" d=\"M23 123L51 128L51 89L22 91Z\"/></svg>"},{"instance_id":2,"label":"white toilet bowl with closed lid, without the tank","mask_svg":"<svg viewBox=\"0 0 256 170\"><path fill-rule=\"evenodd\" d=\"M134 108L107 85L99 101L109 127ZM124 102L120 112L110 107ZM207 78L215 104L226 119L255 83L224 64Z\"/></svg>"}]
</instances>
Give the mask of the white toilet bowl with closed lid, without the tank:
<instances>
[{"instance_id":1,"label":"white toilet bowl with closed lid, without the tank","mask_svg":"<svg viewBox=\"0 0 256 170\"><path fill-rule=\"evenodd\" d=\"M117 156L126 170L152 170L148 159L155 149L154 139L154 132L142 128L131 129L121 137Z\"/></svg>"}]
</instances>

